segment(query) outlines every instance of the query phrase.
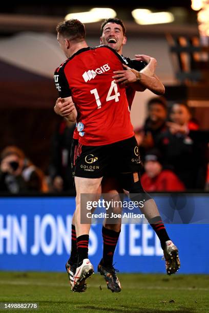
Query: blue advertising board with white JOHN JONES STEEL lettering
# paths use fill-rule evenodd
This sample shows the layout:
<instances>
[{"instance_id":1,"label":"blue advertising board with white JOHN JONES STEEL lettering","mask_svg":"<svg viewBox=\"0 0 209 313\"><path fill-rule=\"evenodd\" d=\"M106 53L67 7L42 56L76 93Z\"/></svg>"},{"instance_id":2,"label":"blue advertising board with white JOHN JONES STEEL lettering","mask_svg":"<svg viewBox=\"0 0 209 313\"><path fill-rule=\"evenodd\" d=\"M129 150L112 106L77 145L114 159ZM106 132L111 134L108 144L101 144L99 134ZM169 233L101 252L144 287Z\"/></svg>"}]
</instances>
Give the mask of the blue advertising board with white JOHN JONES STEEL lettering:
<instances>
[{"instance_id":1,"label":"blue advertising board with white JOHN JONES STEEL lettering","mask_svg":"<svg viewBox=\"0 0 209 313\"><path fill-rule=\"evenodd\" d=\"M199 216L209 197L193 195L192 202L178 195L172 195L172 200L164 197L154 196L162 208L163 220L169 222L166 229L179 248L179 272L209 274L208 215ZM181 214L182 202L190 207L193 203L191 216ZM174 204L180 211L175 211ZM0 270L65 271L74 209L73 197L0 198ZM170 209L172 221L167 212ZM92 225L89 258L95 269L101 256L101 224ZM114 256L120 272L164 273L161 259L159 239L147 223L122 225Z\"/></svg>"}]
</instances>

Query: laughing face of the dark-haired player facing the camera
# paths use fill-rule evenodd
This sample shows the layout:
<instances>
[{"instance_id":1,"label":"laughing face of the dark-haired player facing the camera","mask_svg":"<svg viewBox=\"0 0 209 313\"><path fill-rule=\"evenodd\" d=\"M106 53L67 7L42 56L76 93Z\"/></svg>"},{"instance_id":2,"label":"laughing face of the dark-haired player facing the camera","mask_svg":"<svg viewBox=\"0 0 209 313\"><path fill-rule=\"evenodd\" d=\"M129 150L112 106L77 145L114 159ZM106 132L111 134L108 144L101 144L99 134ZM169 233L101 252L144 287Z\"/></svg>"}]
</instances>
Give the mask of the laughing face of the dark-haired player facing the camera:
<instances>
[{"instance_id":1,"label":"laughing face of the dark-haired player facing the camera","mask_svg":"<svg viewBox=\"0 0 209 313\"><path fill-rule=\"evenodd\" d=\"M100 43L106 44L119 54L122 54L122 46L126 44L127 38L123 36L122 26L116 23L107 23L103 28Z\"/></svg>"}]
</instances>

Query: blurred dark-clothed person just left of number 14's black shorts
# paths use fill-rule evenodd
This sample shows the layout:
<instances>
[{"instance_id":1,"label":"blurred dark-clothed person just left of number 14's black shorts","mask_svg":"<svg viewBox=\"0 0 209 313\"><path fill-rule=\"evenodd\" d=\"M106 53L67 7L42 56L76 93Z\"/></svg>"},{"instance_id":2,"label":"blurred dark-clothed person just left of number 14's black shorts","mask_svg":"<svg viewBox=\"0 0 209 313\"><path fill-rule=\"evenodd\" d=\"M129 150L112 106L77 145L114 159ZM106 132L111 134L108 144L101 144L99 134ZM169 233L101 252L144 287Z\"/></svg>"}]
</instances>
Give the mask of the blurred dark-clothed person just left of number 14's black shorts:
<instances>
[{"instance_id":1,"label":"blurred dark-clothed person just left of number 14's black shorts","mask_svg":"<svg viewBox=\"0 0 209 313\"><path fill-rule=\"evenodd\" d=\"M52 137L49 175L52 180L52 191L55 192L74 190L70 159L74 129L74 122L63 119Z\"/></svg>"}]
</instances>

